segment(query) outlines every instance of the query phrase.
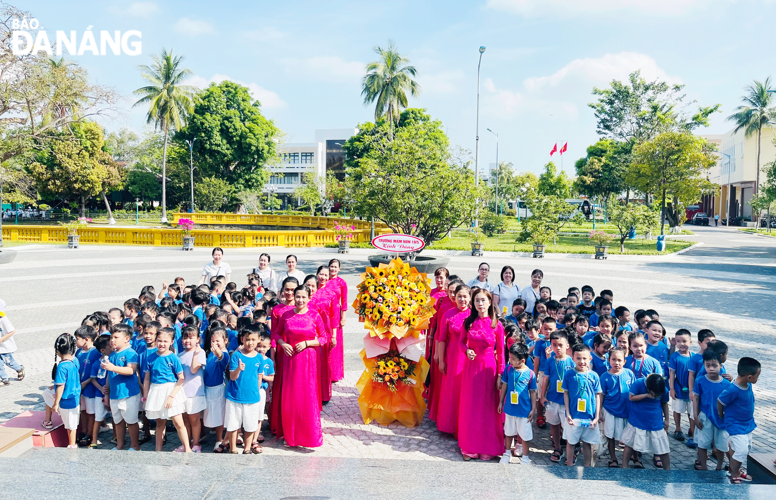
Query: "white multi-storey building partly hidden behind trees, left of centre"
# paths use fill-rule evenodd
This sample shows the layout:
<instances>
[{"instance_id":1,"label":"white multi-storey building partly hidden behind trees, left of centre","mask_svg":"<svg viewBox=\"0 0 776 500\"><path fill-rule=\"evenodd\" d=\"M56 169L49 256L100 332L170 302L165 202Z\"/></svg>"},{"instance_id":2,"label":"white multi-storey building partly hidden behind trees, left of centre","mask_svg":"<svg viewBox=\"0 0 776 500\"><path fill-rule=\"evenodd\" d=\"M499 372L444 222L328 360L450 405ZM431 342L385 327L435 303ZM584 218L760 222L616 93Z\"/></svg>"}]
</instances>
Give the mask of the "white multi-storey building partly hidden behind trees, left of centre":
<instances>
[{"instance_id":1,"label":"white multi-storey building partly hidden behind trees, left of centre","mask_svg":"<svg viewBox=\"0 0 776 500\"><path fill-rule=\"evenodd\" d=\"M342 144L358 133L358 129L316 129L314 143L285 143L278 146L281 159L276 165L268 165L272 177L264 186L264 193L271 191L280 199L282 208L293 208L303 202L293 191L303 181L303 174L311 172L323 180L331 172L337 178L345 178L345 151Z\"/></svg>"}]
</instances>

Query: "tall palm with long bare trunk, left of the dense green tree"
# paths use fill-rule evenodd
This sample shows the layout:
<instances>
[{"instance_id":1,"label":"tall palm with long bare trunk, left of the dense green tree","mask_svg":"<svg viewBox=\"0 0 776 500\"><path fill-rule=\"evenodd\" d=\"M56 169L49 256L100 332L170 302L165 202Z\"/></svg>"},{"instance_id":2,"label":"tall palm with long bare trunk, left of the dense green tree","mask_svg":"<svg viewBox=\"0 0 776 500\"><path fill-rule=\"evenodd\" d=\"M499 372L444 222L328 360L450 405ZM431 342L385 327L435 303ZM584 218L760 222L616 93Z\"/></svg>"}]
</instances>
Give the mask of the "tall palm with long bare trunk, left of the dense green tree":
<instances>
[{"instance_id":1,"label":"tall palm with long bare trunk, left of the dense green tree","mask_svg":"<svg viewBox=\"0 0 776 500\"><path fill-rule=\"evenodd\" d=\"M165 133L165 145L161 155L161 222L167 222L167 140L169 131L180 130L194 110L199 88L183 85L194 72L181 67L182 56L173 57L172 50L161 50L161 55L151 56L151 66L140 65L140 76L150 85L133 93L142 95L134 106L147 104L147 122L154 123Z\"/></svg>"}]
</instances>

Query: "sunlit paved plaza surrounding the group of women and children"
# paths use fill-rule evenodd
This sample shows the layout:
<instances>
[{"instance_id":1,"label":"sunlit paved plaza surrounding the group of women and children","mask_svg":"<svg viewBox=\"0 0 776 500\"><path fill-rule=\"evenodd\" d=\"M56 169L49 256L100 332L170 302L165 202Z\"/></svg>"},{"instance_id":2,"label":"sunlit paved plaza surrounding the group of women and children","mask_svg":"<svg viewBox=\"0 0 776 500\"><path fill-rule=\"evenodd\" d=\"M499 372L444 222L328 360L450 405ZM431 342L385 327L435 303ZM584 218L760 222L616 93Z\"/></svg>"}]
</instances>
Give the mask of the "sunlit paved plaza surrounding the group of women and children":
<instances>
[{"instance_id":1,"label":"sunlit paved plaza surrounding the group of women and children","mask_svg":"<svg viewBox=\"0 0 776 500\"><path fill-rule=\"evenodd\" d=\"M695 229L695 228L691 228ZM719 340L730 348L726 366L735 372L742 356L756 357L763 364L763 374L754 386L757 398L753 452L776 453L776 239L737 232L727 228L701 228L693 239L702 245L670 257L617 257L593 260L579 256L547 255L532 259L508 253L486 252L485 257L450 256L449 269L466 280L476 274L481 260L490 263L491 278L505 264L512 265L520 285L528 283L532 269L544 271L542 284L563 295L570 286L590 284L595 291L610 288L615 305L631 311L656 309L671 335L679 328L694 334L698 329L712 329ZM50 383L54 363L54 338L72 332L81 319L95 310L120 306L126 298L137 297L140 288L182 276L196 283L210 249L182 252L159 247L83 246L67 250L61 246L16 247L19 256L12 264L0 266L0 297L16 326L17 359L26 367L27 377L0 388L0 419L9 419L26 409L44 408L41 391ZM244 283L244 274L258 265L258 255L268 251L275 269L281 269L287 253L299 257L303 271L314 271L326 264L332 253L309 249L240 249L226 250L224 260L232 269L232 281ZM366 253L340 256L342 277L348 282L352 301L359 273L367 264ZM365 330L353 312L348 313L345 329L345 380L334 384L331 403L324 407L324 445L314 450L289 450L272 439L265 428L265 455L345 457L402 460L462 461L456 440L439 433L434 422L424 419L421 426L407 429L397 424L364 425L359 414L355 381L362 373L359 350ZM697 346L692 347L697 350ZM11 373L13 373L11 371ZM684 422L686 432L687 422ZM673 423L672 423L673 427ZM535 464L551 464L552 446L547 430L539 430L532 442ZM101 437L103 448L110 433ZM690 470L695 450L684 443L671 441L671 464L679 470ZM170 433L167 449L178 446L175 433ZM145 443L144 450L153 450ZM205 440L203 450L213 448L213 437ZM86 453L86 452L84 452ZM651 460L644 465L651 468ZM710 463L710 465L713 465ZM598 460L606 466L606 457ZM511 467L522 467L514 465ZM556 467L561 467L556 465Z\"/></svg>"}]
</instances>

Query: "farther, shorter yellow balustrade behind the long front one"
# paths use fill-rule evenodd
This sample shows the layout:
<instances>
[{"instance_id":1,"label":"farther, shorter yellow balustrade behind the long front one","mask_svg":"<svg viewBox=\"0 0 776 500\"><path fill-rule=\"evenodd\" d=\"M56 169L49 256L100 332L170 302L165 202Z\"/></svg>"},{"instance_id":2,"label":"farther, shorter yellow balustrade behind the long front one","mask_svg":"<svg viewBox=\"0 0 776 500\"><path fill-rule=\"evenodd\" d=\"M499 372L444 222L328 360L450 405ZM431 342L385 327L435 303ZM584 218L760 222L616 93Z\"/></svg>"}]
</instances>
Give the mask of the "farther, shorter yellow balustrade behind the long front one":
<instances>
[{"instance_id":1,"label":"farther, shorter yellow balustrade behind the long front one","mask_svg":"<svg viewBox=\"0 0 776 500\"><path fill-rule=\"evenodd\" d=\"M369 229L367 220L345 219L338 217L256 215L250 213L172 213L170 223L177 224L178 219L191 219L196 224L242 224L261 226L296 226L333 229L338 224L355 226L355 229ZM375 229L387 229L383 222L375 222Z\"/></svg>"}]
</instances>

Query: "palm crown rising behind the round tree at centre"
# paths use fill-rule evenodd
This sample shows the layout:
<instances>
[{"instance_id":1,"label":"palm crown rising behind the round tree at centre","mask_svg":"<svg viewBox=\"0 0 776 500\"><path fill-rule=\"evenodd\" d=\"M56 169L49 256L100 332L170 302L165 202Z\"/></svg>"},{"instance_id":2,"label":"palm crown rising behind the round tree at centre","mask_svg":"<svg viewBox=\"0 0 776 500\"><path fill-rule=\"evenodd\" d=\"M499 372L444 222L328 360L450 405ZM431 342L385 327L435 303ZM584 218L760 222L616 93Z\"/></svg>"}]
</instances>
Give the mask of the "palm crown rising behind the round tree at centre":
<instances>
[{"instance_id":1,"label":"palm crown rising behind the round tree at centre","mask_svg":"<svg viewBox=\"0 0 776 500\"><path fill-rule=\"evenodd\" d=\"M385 115L393 138L393 124L399 121L401 109L407 108L407 91L417 97L421 86L413 80L417 70L399 53L393 40L388 40L387 49L378 46L374 50L379 59L366 65L361 95L364 105L376 102L375 122Z\"/></svg>"}]
</instances>

